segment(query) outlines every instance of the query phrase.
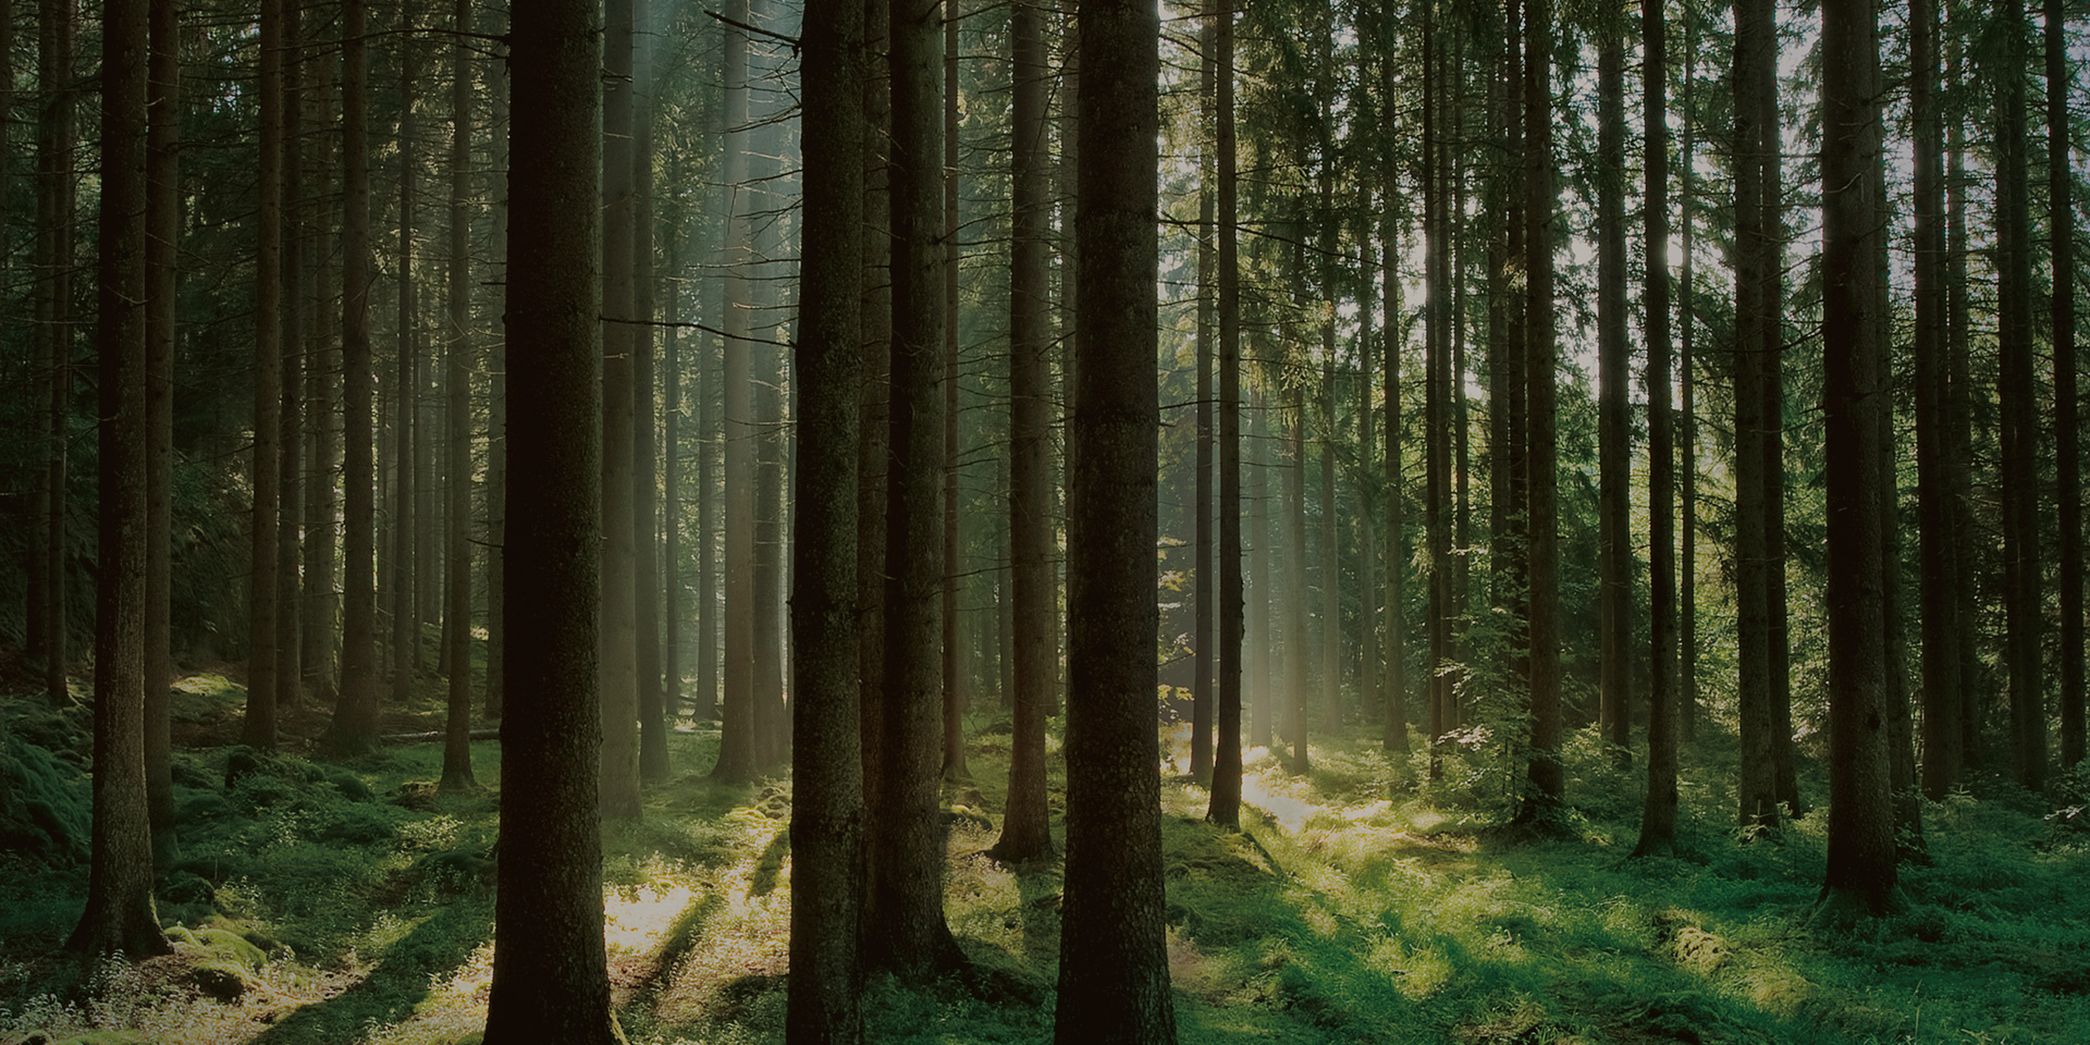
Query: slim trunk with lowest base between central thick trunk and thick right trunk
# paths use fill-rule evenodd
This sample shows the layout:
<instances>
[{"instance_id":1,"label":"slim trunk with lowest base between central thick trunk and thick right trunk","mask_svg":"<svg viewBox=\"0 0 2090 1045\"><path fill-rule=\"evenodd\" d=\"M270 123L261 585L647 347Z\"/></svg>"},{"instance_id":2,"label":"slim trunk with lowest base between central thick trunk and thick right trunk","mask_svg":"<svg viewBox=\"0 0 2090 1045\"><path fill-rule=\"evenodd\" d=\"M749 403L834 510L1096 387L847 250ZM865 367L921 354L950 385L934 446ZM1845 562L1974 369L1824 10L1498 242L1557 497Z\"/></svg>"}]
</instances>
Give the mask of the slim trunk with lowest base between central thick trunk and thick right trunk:
<instances>
[{"instance_id":1,"label":"slim trunk with lowest base between central thick trunk and thick right trunk","mask_svg":"<svg viewBox=\"0 0 2090 1045\"><path fill-rule=\"evenodd\" d=\"M1647 803L1636 857L1676 851L1676 437L1670 420L1670 117L1664 0L1641 0L1641 127L1647 163Z\"/></svg>"}]
</instances>

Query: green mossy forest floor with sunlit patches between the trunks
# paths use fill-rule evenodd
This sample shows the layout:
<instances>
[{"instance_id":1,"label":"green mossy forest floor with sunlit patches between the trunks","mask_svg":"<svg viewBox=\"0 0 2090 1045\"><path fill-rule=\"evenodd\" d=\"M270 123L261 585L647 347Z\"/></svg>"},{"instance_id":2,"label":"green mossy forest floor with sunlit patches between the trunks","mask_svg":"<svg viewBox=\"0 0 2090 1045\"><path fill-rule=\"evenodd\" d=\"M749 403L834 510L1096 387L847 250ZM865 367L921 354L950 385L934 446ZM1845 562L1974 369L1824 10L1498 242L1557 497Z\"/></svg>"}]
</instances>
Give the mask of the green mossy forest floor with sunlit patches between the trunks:
<instances>
[{"instance_id":1,"label":"green mossy forest floor with sunlit patches between the trunks","mask_svg":"<svg viewBox=\"0 0 2090 1045\"><path fill-rule=\"evenodd\" d=\"M477 1041L500 746L472 746L487 788L441 794L439 744L303 754L316 711L286 717L284 754L255 757L234 746L242 700L228 677L194 675L176 702L182 855L159 913L178 953L82 974L54 949L86 882L88 715L0 696L33 811L33 830L0 838L0 1045ZM435 725L431 683L387 729ZM970 725L972 784L947 790L947 915L976 974L869 984L872 1041L1051 1039L1060 869L982 855L1007 732ZM790 782L713 784L715 748L715 729L683 723L644 819L604 828L610 976L633 1043L784 1037ZM1313 757L1296 777L1250 752L1239 834L1206 826L1204 790L1164 775L1185 1045L2090 1043L2080 796L2054 809L1990 786L1927 805L1931 863L1904 867L1902 911L1825 928L1810 913L1827 817L1739 840L1731 738L1687 752L1682 857L1639 861L1641 773L1586 732L1557 836L1501 828L1501 786L1480 788L1499 775L1480 761L1417 784L1417 763L1363 736Z\"/></svg>"}]
</instances>

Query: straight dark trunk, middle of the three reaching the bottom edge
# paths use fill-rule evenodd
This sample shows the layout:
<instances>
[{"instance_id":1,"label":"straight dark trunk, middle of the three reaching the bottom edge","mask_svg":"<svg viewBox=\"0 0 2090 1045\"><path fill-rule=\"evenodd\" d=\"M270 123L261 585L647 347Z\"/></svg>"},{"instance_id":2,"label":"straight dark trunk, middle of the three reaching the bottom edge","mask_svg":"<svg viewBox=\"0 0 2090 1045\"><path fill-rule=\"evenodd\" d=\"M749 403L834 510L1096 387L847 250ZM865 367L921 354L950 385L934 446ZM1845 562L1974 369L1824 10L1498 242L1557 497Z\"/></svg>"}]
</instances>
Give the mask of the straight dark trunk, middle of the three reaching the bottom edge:
<instances>
[{"instance_id":1,"label":"straight dark trunk, middle of the three reaching the bottom edge","mask_svg":"<svg viewBox=\"0 0 2090 1045\"><path fill-rule=\"evenodd\" d=\"M792 541L794 1045L863 1039L863 763L857 732L857 353L863 280L863 2L805 13L805 259Z\"/></svg>"}]
</instances>

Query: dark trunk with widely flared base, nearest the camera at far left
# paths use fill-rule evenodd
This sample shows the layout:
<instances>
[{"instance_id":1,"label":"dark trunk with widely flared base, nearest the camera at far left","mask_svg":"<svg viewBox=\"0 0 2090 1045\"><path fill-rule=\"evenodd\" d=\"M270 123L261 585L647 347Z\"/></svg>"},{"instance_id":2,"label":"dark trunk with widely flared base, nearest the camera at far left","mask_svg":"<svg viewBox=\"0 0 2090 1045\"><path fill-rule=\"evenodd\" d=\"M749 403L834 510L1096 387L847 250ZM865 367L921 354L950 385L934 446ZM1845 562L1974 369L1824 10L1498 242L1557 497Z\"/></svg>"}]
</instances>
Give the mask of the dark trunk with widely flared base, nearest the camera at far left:
<instances>
[{"instance_id":1,"label":"dark trunk with widely flared base, nearest the camera at far left","mask_svg":"<svg viewBox=\"0 0 2090 1045\"><path fill-rule=\"evenodd\" d=\"M88 907L65 940L88 961L109 953L140 959L171 951L153 913L153 828L144 796L146 6L146 0L109 0L102 6L102 192L94 280L102 500L94 594L94 830Z\"/></svg>"}]
</instances>

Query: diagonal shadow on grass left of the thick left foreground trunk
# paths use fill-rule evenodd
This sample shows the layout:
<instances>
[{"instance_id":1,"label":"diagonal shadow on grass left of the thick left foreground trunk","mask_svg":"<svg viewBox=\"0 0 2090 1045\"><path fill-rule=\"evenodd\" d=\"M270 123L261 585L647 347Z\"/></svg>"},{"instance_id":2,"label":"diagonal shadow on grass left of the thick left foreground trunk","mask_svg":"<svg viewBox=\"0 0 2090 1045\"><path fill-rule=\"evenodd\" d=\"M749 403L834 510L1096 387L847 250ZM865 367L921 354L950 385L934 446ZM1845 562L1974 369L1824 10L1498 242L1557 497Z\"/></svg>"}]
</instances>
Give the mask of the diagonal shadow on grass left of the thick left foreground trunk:
<instances>
[{"instance_id":1,"label":"diagonal shadow on grass left of the thick left foreground trunk","mask_svg":"<svg viewBox=\"0 0 2090 1045\"><path fill-rule=\"evenodd\" d=\"M428 984L439 974L464 966L491 934L491 897L441 907L387 947L378 966L355 986L291 1012L251 1045L339 1045L359 1041L368 1026L397 1024L428 997Z\"/></svg>"}]
</instances>

